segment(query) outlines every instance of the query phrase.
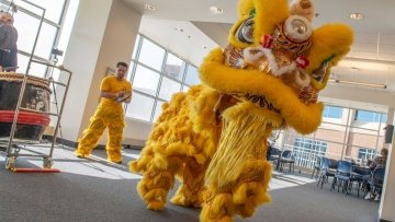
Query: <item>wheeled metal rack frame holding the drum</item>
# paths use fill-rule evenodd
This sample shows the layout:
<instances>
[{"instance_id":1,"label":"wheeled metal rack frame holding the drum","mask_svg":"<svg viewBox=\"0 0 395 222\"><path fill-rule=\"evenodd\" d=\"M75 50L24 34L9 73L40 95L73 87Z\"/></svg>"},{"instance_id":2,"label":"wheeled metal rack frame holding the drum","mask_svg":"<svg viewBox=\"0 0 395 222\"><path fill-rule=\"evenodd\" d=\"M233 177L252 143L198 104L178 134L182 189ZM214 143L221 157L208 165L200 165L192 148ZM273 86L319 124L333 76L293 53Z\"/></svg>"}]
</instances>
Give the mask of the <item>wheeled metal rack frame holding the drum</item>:
<instances>
[{"instance_id":1,"label":"wheeled metal rack frame holding the drum","mask_svg":"<svg viewBox=\"0 0 395 222\"><path fill-rule=\"evenodd\" d=\"M67 91L69 89L72 72L65 69L63 66L56 66L56 62L57 62L56 60L54 60L54 65L53 65L53 63L49 63L49 62L44 62L44 61L41 61L41 60L34 60L33 59L33 55L34 55L35 48L37 46L38 35L40 35L40 32L41 32L41 28L42 28L42 25L43 25L43 21L44 21L46 10L44 8L37 5L37 4L34 4L34 3L30 2L30 1L26 1L26 0L20 0L20 1L22 1L22 2L24 2L26 4L30 4L33 8L36 8L38 10L41 10L42 14L41 14L41 17L40 17L40 24L38 24L38 30L37 30L37 33L36 33L36 36L35 36L34 45L33 45L31 56L30 56L30 59L29 59L26 74L23 75L21 90L19 92L19 98L18 98L18 104L16 104L15 110L14 110L14 116L13 116L13 121L12 121L12 126L11 126L11 130L10 130L10 136L9 136L9 138L5 138L5 140L1 140L1 139L4 139L4 138L0 138L0 154L5 155L5 168L14 170L14 172L19 172L19 171L15 171L16 168L14 168L15 160L19 156L43 157L43 170L42 171L44 171L44 170L50 170L50 167L53 165L53 160L52 160L53 152L54 152L54 148L55 148L55 144L56 144L56 138L57 138L58 129L59 129L59 126L60 126L61 113L64 110L64 105L65 105ZM3 0L1 0L0 2L5 3ZM31 14L27 13L27 15L31 15ZM55 56L55 59L56 59L56 56ZM42 66L46 66L47 68L58 69L60 71L60 74L61 73L67 73L66 74L67 77L61 77L60 75L61 81L59 81L59 82L55 81L52 77L49 77L49 78L45 77L43 79L46 83L49 83L53 86L52 89L53 89L54 95L55 95L56 113L50 112L50 104L52 104L50 100L49 100L49 105L48 105L49 106L48 112L32 110L32 109L30 109L27 107L22 107L21 106L22 100L24 98L24 95L25 95L25 89L26 89L26 83L27 83L29 78L36 78L34 75L29 74L32 62L35 62L35 63L38 63L38 65L42 65ZM38 78L36 78L36 79L38 79ZM57 96L56 96L57 92L55 92L55 91L60 92L63 94L60 103L58 103L58 100L57 100ZM52 97L52 96L49 95L49 97ZM58 106L58 104L61 104L60 107ZM44 116L53 117L50 121L55 121L54 119L56 118L55 130L54 130L54 133L53 133L52 141L49 141L50 145L47 145L47 147L49 147L49 152L47 154L44 154L43 152L40 152L36 149L34 149L35 145L45 149L45 143L42 141L41 135L40 135L40 137L37 137L40 139L34 138L34 140L33 139L25 140L25 139L15 138L16 125L19 124L18 120L19 120L19 118L21 118L19 116L20 112L30 112L30 113L34 113L34 114L37 114L37 115L44 115ZM46 142L46 144L48 144L48 142ZM26 148L26 145L29 145L29 148ZM21 152L22 150L26 150L27 152ZM21 170L21 168L19 168L19 170Z\"/></svg>"}]
</instances>

